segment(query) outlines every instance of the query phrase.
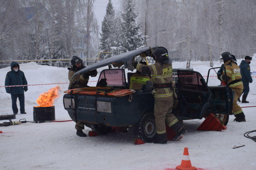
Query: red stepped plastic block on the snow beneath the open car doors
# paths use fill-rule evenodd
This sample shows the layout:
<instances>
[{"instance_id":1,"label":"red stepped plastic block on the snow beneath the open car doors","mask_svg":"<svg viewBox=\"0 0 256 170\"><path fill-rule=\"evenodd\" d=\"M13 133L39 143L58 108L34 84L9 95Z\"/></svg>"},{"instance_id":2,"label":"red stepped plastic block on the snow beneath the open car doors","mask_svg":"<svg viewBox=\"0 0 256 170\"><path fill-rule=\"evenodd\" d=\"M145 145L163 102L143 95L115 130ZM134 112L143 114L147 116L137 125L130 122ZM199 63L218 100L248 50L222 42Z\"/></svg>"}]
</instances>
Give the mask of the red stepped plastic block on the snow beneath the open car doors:
<instances>
[{"instance_id":1,"label":"red stepped plastic block on the snow beneath the open car doors","mask_svg":"<svg viewBox=\"0 0 256 170\"><path fill-rule=\"evenodd\" d=\"M227 127L223 125L220 120L214 116L213 113L210 113L208 117L203 121L203 123L197 128L197 130L215 130L222 131L226 130Z\"/></svg>"}]
</instances>

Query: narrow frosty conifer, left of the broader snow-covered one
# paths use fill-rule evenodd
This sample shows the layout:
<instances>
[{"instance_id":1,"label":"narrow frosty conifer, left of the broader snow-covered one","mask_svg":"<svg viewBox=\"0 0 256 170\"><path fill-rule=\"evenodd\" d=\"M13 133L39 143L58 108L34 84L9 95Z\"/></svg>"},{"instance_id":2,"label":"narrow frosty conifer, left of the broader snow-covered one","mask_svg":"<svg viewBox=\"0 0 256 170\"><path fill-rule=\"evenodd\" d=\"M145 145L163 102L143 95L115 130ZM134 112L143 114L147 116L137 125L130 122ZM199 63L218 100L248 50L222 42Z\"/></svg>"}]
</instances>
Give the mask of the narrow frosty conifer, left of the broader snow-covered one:
<instances>
[{"instance_id":1,"label":"narrow frosty conifer, left of the broader snow-covered one","mask_svg":"<svg viewBox=\"0 0 256 170\"><path fill-rule=\"evenodd\" d=\"M100 38L100 50L103 52L110 52L114 38L114 8L111 0L108 0L106 15L101 22L101 38ZM109 58L110 53L103 53L102 59Z\"/></svg>"}]
</instances>

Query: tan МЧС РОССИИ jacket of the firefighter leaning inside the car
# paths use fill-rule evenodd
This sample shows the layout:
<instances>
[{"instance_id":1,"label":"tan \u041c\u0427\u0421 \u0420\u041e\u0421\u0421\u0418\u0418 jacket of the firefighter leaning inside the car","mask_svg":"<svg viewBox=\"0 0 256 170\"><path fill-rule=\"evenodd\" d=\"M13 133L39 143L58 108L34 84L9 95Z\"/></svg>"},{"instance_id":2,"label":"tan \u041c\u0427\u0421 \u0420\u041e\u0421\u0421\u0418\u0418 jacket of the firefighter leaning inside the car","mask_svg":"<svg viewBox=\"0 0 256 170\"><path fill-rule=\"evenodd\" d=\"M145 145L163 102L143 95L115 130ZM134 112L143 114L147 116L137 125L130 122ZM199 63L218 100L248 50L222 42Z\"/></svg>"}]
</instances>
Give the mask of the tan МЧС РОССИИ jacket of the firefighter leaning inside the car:
<instances>
[{"instance_id":1,"label":"tan \u041c\u0427\u0421 \u0420\u041e\u0421\u0421\u0418\u0418 jacket of the firefighter leaning inside the car","mask_svg":"<svg viewBox=\"0 0 256 170\"><path fill-rule=\"evenodd\" d=\"M130 77L129 89L142 90L142 86L146 84L147 81L152 82L152 79L149 77L149 75L134 73Z\"/></svg>"}]
</instances>

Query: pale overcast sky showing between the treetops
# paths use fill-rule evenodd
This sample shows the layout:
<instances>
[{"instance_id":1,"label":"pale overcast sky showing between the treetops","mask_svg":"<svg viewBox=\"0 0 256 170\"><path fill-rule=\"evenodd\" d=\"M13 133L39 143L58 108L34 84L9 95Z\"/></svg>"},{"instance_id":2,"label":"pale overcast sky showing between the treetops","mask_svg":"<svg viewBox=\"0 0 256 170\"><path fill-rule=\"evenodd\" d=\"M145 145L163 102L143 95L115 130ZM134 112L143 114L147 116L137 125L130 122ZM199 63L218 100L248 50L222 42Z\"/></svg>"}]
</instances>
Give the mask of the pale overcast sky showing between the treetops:
<instances>
[{"instance_id":1,"label":"pale overcast sky showing between the treetops","mask_svg":"<svg viewBox=\"0 0 256 170\"><path fill-rule=\"evenodd\" d=\"M119 11L121 0L111 0L111 1L112 1L114 10ZM94 2L94 12L95 12L96 18L98 19L100 31L101 31L101 22L103 21L104 16L106 14L107 4L108 4L108 0L95 0Z\"/></svg>"}]
</instances>

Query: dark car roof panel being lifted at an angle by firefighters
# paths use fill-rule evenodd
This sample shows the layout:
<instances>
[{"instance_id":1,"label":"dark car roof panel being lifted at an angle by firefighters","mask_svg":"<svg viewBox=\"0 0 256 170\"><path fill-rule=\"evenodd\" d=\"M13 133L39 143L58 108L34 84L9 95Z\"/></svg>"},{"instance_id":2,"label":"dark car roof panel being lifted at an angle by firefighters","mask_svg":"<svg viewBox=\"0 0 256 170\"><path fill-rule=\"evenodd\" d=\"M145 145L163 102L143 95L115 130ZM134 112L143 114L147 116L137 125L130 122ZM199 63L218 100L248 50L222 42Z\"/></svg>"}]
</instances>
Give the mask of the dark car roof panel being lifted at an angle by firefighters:
<instances>
[{"instance_id":1,"label":"dark car roof panel being lifted at an angle by firefighters","mask_svg":"<svg viewBox=\"0 0 256 170\"><path fill-rule=\"evenodd\" d=\"M155 48L156 47L153 47L152 49L155 49ZM89 72L90 70L94 70L94 69L97 69L97 68L100 68L100 67L111 65L112 63L121 63L121 62L124 63L125 68L128 68L128 70L132 71L133 68L130 66L130 64L132 62L132 58L134 56L138 56L142 53L144 53L146 55L148 52L150 52L149 47L145 47L145 48L137 49L137 50L133 50L133 51L128 51L128 52L125 52L125 53L107 58L105 60L99 61L97 63L94 63L94 64L90 65L90 66L87 66L86 68L83 68L83 69L79 70L78 72L76 72L74 74L74 76L76 76L78 74ZM148 55L146 55L146 56L148 56Z\"/></svg>"}]
</instances>

